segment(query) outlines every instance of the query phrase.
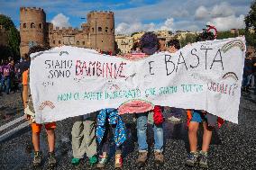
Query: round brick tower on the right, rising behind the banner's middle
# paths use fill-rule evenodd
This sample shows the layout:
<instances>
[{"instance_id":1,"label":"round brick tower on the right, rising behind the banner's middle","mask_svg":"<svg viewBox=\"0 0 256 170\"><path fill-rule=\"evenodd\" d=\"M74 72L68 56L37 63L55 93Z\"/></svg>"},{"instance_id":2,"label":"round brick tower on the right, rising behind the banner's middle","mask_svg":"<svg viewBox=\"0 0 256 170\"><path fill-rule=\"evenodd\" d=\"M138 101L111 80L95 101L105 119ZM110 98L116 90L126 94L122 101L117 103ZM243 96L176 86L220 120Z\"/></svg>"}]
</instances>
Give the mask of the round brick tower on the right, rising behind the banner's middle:
<instances>
[{"instance_id":1,"label":"round brick tower on the right, rising behind the banner's middle","mask_svg":"<svg viewBox=\"0 0 256 170\"><path fill-rule=\"evenodd\" d=\"M87 23L90 26L91 48L114 52L114 13L90 12Z\"/></svg>"}]
</instances>

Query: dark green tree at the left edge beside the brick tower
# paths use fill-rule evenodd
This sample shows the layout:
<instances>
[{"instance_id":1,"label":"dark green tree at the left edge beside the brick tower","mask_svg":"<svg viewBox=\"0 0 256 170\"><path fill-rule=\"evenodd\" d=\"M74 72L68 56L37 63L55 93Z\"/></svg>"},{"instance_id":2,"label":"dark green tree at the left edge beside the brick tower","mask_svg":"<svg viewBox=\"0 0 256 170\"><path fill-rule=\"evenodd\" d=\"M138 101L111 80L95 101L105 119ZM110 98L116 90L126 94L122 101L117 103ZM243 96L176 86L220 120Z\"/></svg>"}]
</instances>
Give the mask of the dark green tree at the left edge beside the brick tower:
<instances>
[{"instance_id":1,"label":"dark green tree at the left edge beside the brick tower","mask_svg":"<svg viewBox=\"0 0 256 170\"><path fill-rule=\"evenodd\" d=\"M10 17L0 14L0 25L3 25L5 31L8 33L8 51L11 51L9 55L13 56L15 60L20 58L20 33L15 28L14 22ZM6 50L6 49L5 49ZM4 52L4 54L7 54ZM1 56L2 58L8 58L9 56Z\"/></svg>"}]
</instances>

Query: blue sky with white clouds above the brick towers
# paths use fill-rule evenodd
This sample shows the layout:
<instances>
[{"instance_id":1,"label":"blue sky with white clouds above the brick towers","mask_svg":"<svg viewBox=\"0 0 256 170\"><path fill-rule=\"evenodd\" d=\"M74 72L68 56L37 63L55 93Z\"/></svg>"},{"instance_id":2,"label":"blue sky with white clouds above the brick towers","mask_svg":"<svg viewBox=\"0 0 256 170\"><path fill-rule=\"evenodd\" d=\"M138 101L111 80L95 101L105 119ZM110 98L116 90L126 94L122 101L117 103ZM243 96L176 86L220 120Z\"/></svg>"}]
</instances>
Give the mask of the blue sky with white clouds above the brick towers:
<instances>
[{"instance_id":1,"label":"blue sky with white clouds above the brick towers","mask_svg":"<svg viewBox=\"0 0 256 170\"><path fill-rule=\"evenodd\" d=\"M134 31L201 31L206 24L218 31L245 27L253 0L0 0L0 13L18 28L20 7L41 7L47 22L80 28L90 11L113 11L115 34Z\"/></svg>"}]
</instances>

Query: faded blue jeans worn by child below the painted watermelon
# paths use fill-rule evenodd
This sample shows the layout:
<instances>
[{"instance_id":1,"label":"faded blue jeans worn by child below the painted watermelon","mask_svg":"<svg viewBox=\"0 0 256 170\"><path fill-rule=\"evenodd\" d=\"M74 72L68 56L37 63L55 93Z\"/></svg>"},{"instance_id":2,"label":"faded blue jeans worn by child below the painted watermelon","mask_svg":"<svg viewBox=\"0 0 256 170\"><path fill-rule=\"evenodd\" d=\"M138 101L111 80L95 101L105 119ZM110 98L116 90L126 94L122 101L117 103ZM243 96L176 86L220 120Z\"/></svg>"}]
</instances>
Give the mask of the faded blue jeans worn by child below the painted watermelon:
<instances>
[{"instance_id":1,"label":"faded blue jeans worn by child below the painted watermelon","mask_svg":"<svg viewBox=\"0 0 256 170\"><path fill-rule=\"evenodd\" d=\"M147 143L147 127L148 127L148 112L137 113L137 136L139 143L139 152L148 150ZM153 124L154 130L154 150L162 152L163 150L163 130L162 123L160 125Z\"/></svg>"}]
</instances>

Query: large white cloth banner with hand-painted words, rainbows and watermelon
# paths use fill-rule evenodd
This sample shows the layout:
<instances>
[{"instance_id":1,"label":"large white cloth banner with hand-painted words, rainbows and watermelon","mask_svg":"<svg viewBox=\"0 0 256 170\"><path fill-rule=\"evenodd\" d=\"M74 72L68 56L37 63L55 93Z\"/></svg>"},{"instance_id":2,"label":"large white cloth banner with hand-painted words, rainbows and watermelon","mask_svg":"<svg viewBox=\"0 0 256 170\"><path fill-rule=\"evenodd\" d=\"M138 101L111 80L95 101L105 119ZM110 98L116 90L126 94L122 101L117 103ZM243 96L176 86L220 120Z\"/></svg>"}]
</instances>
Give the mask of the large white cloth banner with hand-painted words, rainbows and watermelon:
<instances>
[{"instance_id":1,"label":"large white cloth banner with hand-painted words, rainbows and watermelon","mask_svg":"<svg viewBox=\"0 0 256 170\"><path fill-rule=\"evenodd\" d=\"M60 47L32 54L31 90L38 123L153 105L205 110L238 123L244 37L187 45L141 60Z\"/></svg>"}]
</instances>

